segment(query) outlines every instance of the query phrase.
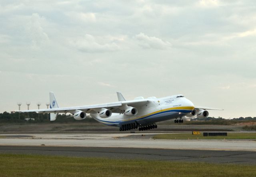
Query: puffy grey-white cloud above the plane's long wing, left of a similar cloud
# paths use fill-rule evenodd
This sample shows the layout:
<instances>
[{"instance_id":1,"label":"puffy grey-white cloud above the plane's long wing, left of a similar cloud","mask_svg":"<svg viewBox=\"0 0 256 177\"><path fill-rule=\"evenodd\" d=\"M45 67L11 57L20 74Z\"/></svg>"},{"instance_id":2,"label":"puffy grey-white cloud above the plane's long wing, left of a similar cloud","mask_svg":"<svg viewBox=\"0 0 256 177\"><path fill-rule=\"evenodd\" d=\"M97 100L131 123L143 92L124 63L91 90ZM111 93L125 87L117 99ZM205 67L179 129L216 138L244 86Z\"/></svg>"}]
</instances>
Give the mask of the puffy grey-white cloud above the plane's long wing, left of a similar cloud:
<instances>
[{"instance_id":1,"label":"puffy grey-white cloud above the plane's long wing, left of a similar cloud","mask_svg":"<svg viewBox=\"0 0 256 177\"><path fill-rule=\"evenodd\" d=\"M113 40L104 40L104 37L94 37L86 34L83 38L71 42L79 51L94 53L94 52L114 52L120 50L120 47Z\"/></svg>"}]
</instances>

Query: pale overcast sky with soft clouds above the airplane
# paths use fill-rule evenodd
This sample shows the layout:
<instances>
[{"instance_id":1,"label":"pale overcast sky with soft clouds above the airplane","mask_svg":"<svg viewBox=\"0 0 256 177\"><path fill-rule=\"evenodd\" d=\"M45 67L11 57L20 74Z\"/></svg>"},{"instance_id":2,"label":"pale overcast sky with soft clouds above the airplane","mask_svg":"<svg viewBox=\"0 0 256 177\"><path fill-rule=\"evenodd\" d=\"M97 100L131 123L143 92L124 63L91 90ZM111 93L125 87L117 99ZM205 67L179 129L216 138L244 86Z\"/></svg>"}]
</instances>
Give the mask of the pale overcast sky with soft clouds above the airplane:
<instances>
[{"instance_id":1,"label":"pale overcast sky with soft clouds above the airplane","mask_svg":"<svg viewBox=\"0 0 256 177\"><path fill-rule=\"evenodd\" d=\"M254 0L0 0L0 112L183 94L256 116Z\"/></svg>"}]
</instances>

